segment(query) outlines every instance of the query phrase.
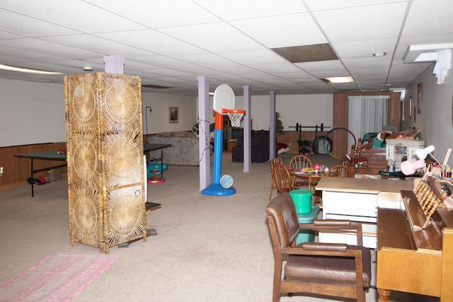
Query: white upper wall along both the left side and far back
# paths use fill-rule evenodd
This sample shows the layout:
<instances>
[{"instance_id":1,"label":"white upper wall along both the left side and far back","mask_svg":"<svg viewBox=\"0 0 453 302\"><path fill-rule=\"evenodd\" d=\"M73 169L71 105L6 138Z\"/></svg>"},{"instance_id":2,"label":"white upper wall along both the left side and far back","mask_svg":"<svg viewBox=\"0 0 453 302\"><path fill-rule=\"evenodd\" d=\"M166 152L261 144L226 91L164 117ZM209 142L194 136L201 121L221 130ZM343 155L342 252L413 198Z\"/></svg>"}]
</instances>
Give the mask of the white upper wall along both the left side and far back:
<instances>
[{"instance_id":1,"label":"white upper wall along both the left side and far back","mask_svg":"<svg viewBox=\"0 0 453 302\"><path fill-rule=\"evenodd\" d=\"M0 79L0 146L66 141L64 86L56 83ZM212 112L212 98L210 98ZM251 96L253 129L269 129L269 95ZM333 96L276 95L276 108L287 131L316 124L331 127ZM159 93L142 93L143 133L185 131L197 124L197 98ZM152 112L149 112L148 106ZM179 122L168 122L168 108L179 108ZM243 109L243 96L236 96L236 109ZM214 122L214 115L210 115ZM313 129L307 129L308 131Z\"/></svg>"}]
</instances>

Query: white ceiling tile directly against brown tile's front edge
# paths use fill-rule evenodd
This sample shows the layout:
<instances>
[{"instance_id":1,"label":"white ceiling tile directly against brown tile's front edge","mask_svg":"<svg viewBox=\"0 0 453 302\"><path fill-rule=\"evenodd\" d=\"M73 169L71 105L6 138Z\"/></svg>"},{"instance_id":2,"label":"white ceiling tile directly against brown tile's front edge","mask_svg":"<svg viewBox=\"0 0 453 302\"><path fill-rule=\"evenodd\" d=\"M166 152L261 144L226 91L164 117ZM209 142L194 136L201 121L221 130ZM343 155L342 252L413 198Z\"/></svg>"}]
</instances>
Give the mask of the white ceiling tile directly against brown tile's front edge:
<instances>
[{"instance_id":1,"label":"white ceiling tile directly against brown tile's front edge","mask_svg":"<svg viewBox=\"0 0 453 302\"><path fill-rule=\"evenodd\" d=\"M231 25L269 48L326 42L308 13L231 21Z\"/></svg>"}]
</instances>

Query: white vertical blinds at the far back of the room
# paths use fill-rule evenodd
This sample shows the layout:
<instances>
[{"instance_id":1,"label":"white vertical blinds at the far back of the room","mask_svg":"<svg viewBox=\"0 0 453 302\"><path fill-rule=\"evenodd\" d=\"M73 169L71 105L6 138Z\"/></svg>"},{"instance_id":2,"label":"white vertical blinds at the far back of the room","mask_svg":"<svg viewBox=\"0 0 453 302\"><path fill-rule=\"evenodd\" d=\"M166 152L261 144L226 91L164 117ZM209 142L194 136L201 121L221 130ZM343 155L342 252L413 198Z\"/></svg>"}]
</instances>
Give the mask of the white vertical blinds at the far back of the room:
<instances>
[{"instance_id":1,"label":"white vertical blinds at the far back of the room","mask_svg":"<svg viewBox=\"0 0 453 302\"><path fill-rule=\"evenodd\" d=\"M389 95L359 95L348 97L348 129L355 139L368 132L381 132L389 115ZM348 146L354 140L348 136Z\"/></svg>"}]
</instances>

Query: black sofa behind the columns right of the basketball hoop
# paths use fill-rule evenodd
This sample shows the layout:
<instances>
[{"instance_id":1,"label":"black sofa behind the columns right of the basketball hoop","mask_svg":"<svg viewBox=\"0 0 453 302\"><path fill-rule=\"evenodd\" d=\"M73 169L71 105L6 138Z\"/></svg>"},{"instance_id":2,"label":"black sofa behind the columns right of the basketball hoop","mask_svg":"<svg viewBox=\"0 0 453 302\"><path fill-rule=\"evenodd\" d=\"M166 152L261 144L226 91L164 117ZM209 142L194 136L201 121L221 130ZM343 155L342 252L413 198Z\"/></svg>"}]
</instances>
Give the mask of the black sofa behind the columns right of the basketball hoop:
<instances>
[{"instance_id":1,"label":"black sofa behind the columns right of the basketball hoop","mask_svg":"<svg viewBox=\"0 0 453 302\"><path fill-rule=\"evenodd\" d=\"M251 161L252 163L264 163L269 161L269 132L265 130L252 131L251 133ZM237 145L231 149L231 160L243 162L243 138L237 141Z\"/></svg>"}]
</instances>

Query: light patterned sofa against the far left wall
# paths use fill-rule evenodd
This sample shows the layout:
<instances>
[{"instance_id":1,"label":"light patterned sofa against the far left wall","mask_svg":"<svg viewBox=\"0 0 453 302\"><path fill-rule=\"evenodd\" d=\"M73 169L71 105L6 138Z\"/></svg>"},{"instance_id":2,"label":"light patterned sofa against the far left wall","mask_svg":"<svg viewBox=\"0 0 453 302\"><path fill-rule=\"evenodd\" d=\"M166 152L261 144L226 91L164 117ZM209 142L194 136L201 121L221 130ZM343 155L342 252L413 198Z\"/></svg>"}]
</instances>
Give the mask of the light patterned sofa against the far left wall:
<instances>
[{"instance_id":1,"label":"light patterned sofa against the far left wall","mask_svg":"<svg viewBox=\"0 0 453 302\"><path fill-rule=\"evenodd\" d=\"M162 132L147 138L148 144L172 144L164 149L164 163L168 165L200 165L198 137L191 131ZM161 151L149 152L149 158L160 158Z\"/></svg>"}]
</instances>

